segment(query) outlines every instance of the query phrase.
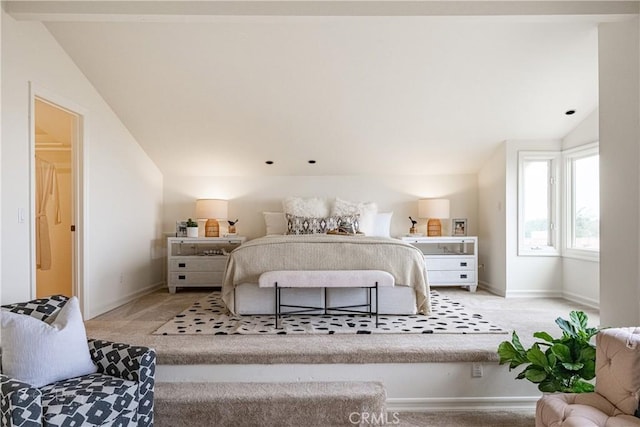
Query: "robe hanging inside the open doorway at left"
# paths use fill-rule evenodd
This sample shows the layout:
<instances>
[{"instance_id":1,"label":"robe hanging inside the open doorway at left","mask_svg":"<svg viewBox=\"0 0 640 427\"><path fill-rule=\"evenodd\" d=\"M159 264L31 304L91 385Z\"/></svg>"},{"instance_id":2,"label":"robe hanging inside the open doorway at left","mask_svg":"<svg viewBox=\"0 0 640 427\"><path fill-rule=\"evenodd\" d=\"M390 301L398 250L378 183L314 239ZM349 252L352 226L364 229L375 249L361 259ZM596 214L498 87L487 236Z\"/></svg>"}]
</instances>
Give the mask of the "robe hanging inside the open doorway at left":
<instances>
[{"instance_id":1,"label":"robe hanging inside the open doorway at left","mask_svg":"<svg viewBox=\"0 0 640 427\"><path fill-rule=\"evenodd\" d=\"M62 222L58 175L53 163L36 156L36 266L41 270L51 268L51 239L47 206L50 199L55 203L55 224Z\"/></svg>"}]
</instances>

